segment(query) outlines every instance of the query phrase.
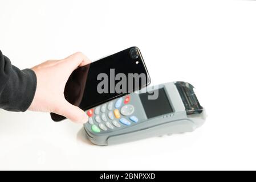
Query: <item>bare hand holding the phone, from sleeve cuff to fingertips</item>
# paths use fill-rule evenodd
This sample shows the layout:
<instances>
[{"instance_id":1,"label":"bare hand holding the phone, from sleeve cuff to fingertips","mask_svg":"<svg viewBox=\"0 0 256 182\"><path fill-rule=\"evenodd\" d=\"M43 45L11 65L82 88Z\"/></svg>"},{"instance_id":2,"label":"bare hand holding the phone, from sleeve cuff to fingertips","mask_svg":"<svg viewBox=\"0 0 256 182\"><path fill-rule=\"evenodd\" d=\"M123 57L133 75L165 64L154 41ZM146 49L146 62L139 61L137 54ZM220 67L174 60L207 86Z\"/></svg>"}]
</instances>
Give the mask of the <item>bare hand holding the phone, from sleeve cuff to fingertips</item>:
<instances>
[{"instance_id":1,"label":"bare hand holding the phone, from sleeve cuff to fingertips","mask_svg":"<svg viewBox=\"0 0 256 182\"><path fill-rule=\"evenodd\" d=\"M64 88L71 73L88 63L90 60L77 52L66 59L48 60L31 68L35 72L37 86L29 110L56 113L73 122L86 123L87 114L65 99Z\"/></svg>"}]
</instances>

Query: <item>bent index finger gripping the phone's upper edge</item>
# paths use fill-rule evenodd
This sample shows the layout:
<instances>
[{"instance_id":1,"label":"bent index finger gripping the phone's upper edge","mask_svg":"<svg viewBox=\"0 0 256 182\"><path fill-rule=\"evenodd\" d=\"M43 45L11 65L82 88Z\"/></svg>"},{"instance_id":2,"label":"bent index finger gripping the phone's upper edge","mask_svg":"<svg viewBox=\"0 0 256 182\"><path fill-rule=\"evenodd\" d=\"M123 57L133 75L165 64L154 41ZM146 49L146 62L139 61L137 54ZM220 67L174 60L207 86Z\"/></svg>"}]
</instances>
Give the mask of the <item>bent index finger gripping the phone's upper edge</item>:
<instances>
[{"instance_id":1,"label":"bent index finger gripping the phone's upper edge","mask_svg":"<svg viewBox=\"0 0 256 182\"><path fill-rule=\"evenodd\" d=\"M78 67L83 67L84 65L91 63L88 57L84 55L82 52L76 52L66 57L64 61L70 66L72 71L74 71L74 69Z\"/></svg>"}]
</instances>

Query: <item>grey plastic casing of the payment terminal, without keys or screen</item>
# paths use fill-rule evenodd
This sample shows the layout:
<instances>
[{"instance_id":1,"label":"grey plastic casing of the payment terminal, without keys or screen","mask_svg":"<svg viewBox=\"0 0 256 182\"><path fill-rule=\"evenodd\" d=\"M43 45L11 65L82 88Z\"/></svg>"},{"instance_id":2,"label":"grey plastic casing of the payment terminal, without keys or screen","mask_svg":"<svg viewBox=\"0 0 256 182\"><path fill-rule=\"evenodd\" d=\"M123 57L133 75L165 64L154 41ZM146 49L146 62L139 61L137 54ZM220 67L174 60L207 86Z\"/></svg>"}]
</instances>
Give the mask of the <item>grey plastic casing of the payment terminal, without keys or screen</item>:
<instances>
[{"instance_id":1,"label":"grey plastic casing of the payment terminal, without keys or screen","mask_svg":"<svg viewBox=\"0 0 256 182\"><path fill-rule=\"evenodd\" d=\"M173 112L148 119L139 94L152 92L152 90L160 88L164 88L170 105L173 108ZM121 127L115 127L114 129L108 129L107 131L101 130L100 133L94 133L91 129L92 125L87 122L84 124L84 129L86 130L87 138L90 139L92 143L105 146L109 144L132 142L135 140L157 137L166 134L169 135L191 132L202 126L206 119L205 109L203 109L202 112L198 114L186 114L184 104L174 82L168 82L166 84L160 84L156 86L148 86L147 88L143 88L140 91L129 94L129 96L129 104L135 107L135 111L132 115L135 115L139 121L137 123L131 122L131 125L129 126L120 123ZM125 97L127 96L123 96L123 100ZM115 102L117 100L119 100L119 98L113 101L109 101L113 102L113 110L115 109ZM108 105L109 102L105 103L105 105ZM124 106L124 103L122 103L121 107L122 106ZM129 121L129 116L125 117L124 115L121 115L121 118L125 118ZM111 121L109 118L107 119L108 121ZM115 120L119 122L119 119L115 118ZM94 123L97 126L99 125L99 123L95 121Z\"/></svg>"}]
</instances>

